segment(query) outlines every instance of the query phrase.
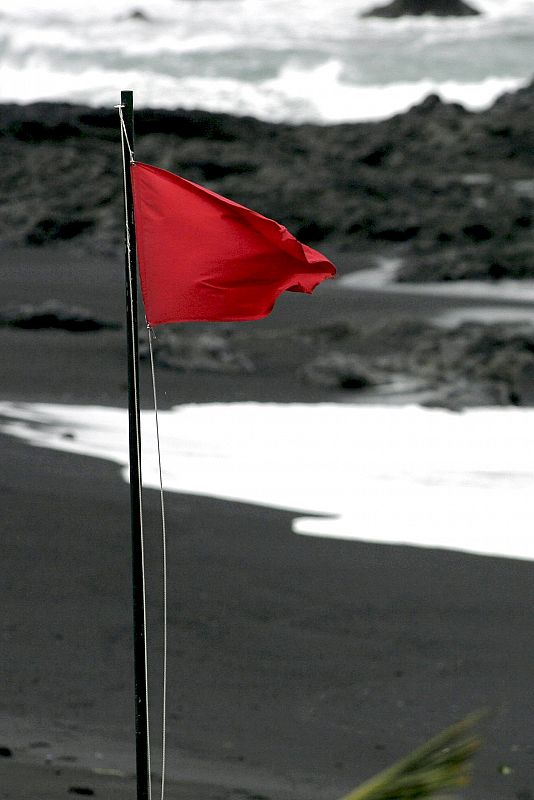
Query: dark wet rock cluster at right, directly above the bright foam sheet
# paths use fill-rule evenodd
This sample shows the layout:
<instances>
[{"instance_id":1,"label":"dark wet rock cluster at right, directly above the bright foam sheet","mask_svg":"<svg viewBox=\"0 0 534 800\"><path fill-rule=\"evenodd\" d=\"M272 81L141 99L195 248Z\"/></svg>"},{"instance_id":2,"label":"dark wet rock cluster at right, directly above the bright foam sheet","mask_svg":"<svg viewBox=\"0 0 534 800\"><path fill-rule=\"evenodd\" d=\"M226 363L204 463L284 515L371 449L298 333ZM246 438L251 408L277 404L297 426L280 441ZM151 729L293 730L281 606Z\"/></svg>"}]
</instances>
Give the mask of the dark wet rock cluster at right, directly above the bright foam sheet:
<instances>
[{"instance_id":1,"label":"dark wet rock cluster at right, directly above the bright foam sheet","mask_svg":"<svg viewBox=\"0 0 534 800\"><path fill-rule=\"evenodd\" d=\"M527 322L338 324L309 331L307 344L300 374L308 383L381 391L404 385L425 405L451 409L534 405L534 328Z\"/></svg>"}]
</instances>

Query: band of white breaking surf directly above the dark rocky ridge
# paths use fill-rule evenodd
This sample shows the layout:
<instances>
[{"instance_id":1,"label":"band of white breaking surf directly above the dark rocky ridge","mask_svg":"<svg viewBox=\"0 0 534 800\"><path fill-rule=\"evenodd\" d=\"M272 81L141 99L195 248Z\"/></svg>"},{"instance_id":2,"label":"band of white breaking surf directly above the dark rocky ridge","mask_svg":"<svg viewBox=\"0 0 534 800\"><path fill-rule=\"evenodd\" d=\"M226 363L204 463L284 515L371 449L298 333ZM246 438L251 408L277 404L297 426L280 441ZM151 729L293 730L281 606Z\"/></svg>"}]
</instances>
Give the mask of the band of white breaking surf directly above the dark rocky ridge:
<instances>
[{"instance_id":1,"label":"band of white breaking surf directly above the dark rocky ridge","mask_svg":"<svg viewBox=\"0 0 534 800\"><path fill-rule=\"evenodd\" d=\"M46 76L40 89L32 81L37 71ZM112 106L124 86L133 86L139 107L203 108L295 123L379 120L417 105L429 94L438 94L443 100L461 103L470 110L482 110L504 92L514 91L524 83L511 77L492 77L481 83L421 80L390 86L351 86L342 80L338 62L309 70L288 65L275 78L257 84L237 78L198 76L177 81L169 75L136 69L106 71L84 67L65 72L50 69L38 57L28 59L25 68L0 67L3 102L68 97L75 103Z\"/></svg>"}]
</instances>

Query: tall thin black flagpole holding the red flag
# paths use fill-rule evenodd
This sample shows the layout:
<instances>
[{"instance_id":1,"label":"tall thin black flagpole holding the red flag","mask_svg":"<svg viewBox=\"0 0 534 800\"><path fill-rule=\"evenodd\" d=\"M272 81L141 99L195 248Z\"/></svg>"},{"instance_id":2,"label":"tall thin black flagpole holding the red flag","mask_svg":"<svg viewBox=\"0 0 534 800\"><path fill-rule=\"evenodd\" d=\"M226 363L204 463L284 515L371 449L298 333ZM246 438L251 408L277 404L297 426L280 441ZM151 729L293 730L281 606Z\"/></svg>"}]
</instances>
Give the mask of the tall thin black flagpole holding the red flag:
<instances>
[{"instance_id":1,"label":"tall thin black flagpole holding the red flag","mask_svg":"<svg viewBox=\"0 0 534 800\"><path fill-rule=\"evenodd\" d=\"M135 676L135 748L137 800L150 798L150 752L146 670L145 577L141 504L141 420L139 408L139 342L137 332L137 256L130 161L134 157L133 92L121 92L122 161L126 217L126 337L128 346L128 421L130 441L130 513Z\"/></svg>"}]
</instances>

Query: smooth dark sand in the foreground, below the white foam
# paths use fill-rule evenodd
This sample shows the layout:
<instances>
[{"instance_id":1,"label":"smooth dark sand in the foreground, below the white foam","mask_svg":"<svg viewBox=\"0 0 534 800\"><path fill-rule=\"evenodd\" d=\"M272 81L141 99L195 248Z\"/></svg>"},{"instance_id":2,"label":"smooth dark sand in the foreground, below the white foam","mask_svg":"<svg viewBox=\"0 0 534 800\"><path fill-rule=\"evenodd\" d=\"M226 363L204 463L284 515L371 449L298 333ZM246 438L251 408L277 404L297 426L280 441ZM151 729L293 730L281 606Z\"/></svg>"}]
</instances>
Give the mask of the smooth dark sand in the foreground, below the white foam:
<instances>
[{"instance_id":1,"label":"smooth dark sand in the foreground, below the white foam","mask_svg":"<svg viewBox=\"0 0 534 800\"><path fill-rule=\"evenodd\" d=\"M10 581L5 594L11 658L3 685L13 694L2 704L8 727L1 744L14 757L2 759L0 770L15 767L9 800L41 800L40 776L76 763L59 758L77 755L73 740L87 753L94 734L105 768L128 772L120 755L128 749L133 759L131 740L121 737L117 750L108 733L133 725L127 486L97 459L2 440L11 486L5 563L11 575L25 569L32 592L22 626L24 587ZM51 494L62 498L52 511ZM148 490L146 503L148 530L156 529L157 492ZM170 797L180 794L174 778L181 775L218 786L207 797L226 787L228 796L336 800L482 706L494 719L466 798L512 800L529 785L531 563L295 536L292 514L187 495L169 496L168 516L178 533L169 541ZM29 560L37 541L38 563ZM53 596L62 599L43 607L52 575L43 565L54 563L58 547L63 568ZM157 560L152 547L151 576ZM157 582L150 596L157 605ZM81 631L87 608L92 618ZM152 636L158 625L152 607ZM152 657L157 669L157 647ZM39 709L42 723L34 729L30 721L25 737L13 741L18 698ZM54 731L63 741L58 758L25 771L31 743L53 743ZM196 766L187 767L191 757ZM501 763L512 766L510 778L499 774Z\"/></svg>"}]
</instances>

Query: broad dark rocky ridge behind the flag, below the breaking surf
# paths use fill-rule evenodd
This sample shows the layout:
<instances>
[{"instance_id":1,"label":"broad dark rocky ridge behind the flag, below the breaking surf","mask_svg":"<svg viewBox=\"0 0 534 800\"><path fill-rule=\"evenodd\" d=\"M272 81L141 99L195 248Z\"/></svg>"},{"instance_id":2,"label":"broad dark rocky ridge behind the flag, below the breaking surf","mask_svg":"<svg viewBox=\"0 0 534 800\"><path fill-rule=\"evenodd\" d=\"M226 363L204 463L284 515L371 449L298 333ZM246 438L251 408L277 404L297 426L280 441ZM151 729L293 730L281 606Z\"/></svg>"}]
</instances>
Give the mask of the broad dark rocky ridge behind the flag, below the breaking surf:
<instances>
[{"instance_id":1,"label":"broad dark rocky ridge behind the flag, below the breaking surf","mask_svg":"<svg viewBox=\"0 0 534 800\"><path fill-rule=\"evenodd\" d=\"M136 112L136 154L353 263L399 279L534 276L534 85L470 113L431 95L378 123L285 125L203 111ZM4 246L73 240L120 257L116 112L0 105Z\"/></svg>"}]
</instances>

